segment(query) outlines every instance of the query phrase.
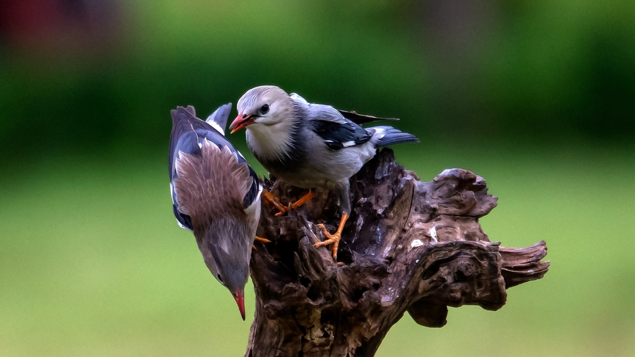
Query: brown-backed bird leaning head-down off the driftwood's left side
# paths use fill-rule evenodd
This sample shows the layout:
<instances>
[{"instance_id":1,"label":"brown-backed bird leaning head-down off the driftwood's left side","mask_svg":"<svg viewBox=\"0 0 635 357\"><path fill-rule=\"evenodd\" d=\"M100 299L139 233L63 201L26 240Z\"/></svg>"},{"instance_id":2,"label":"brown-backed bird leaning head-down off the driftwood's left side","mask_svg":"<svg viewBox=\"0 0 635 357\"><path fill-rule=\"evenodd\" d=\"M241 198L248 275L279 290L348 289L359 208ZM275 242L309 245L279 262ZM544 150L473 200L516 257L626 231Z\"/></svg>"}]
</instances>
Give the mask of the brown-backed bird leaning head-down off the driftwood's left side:
<instances>
[{"instance_id":1,"label":"brown-backed bird leaning head-down off the driftwood's left side","mask_svg":"<svg viewBox=\"0 0 635 357\"><path fill-rule=\"evenodd\" d=\"M169 174L176 222L192 231L205 265L231 292L245 320L245 285L260 219L262 185L224 136L231 103L207 121L194 107L171 110Z\"/></svg>"}]
</instances>

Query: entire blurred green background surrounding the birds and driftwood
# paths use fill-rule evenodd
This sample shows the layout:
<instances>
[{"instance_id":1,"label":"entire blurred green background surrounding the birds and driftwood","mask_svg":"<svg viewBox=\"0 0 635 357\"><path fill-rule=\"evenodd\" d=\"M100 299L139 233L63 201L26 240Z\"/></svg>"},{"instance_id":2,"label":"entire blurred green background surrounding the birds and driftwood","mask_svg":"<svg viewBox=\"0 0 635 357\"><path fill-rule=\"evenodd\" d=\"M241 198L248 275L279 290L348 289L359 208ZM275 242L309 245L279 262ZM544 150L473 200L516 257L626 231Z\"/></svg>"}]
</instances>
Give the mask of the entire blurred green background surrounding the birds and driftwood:
<instances>
[{"instance_id":1,"label":"entire blurred green background surrounding the birds and driftwood","mask_svg":"<svg viewBox=\"0 0 635 357\"><path fill-rule=\"evenodd\" d=\"M401 118L423 180L487 179L492 241L548 242L550 272L502 310L406 315L377 356L635 356L634 18L629 0L1 2L0 356L244 353L249 319L171 213L169 110L262 84Z\"/></svg>"}]
</instances>

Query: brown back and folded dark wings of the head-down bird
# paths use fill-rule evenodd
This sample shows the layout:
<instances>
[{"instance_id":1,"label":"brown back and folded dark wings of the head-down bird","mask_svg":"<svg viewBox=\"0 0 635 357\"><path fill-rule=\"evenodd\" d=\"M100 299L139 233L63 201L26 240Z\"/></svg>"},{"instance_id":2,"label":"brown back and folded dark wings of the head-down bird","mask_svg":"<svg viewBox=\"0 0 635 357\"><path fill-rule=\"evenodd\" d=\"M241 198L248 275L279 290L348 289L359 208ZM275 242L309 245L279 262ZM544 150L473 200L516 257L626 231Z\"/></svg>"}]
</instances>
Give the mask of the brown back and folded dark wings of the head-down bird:
<instances>
[{"instance_id":1,"label":"brown back and folded dark wings of the head-down bird","mask_svg":"<svg viewBox=\"0 0 635 357\"><path fill-rule=\"evenodd\" d=\"M244 216L258 193L258 178L245 159L222 133L196 118L193 108L173 110L172 121L169 169L181 226L194 230L210 219Z\"/></svg>"}]
</instances>

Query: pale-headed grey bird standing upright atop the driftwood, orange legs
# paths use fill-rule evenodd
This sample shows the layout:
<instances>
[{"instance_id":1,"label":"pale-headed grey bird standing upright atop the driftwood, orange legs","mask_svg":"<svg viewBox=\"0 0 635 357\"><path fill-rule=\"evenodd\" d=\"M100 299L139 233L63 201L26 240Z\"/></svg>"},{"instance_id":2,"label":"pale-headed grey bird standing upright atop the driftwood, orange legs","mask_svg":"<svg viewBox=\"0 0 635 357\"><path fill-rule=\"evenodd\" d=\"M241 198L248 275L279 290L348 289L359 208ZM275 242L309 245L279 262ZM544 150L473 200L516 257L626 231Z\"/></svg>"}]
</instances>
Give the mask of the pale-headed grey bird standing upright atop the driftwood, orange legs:
<instances>
[{"instance_id":1,"label":"pale-headed grey bird standing upright atop the driftwood, orange legs","mask_svg":"<svg viewBox=\"0 0 635 357\"><path fill-rule=\"evenodd\" d=\"M313 198L313 188L332 190L339 200L341 218L334 234L317 226L327 238L316 247L332 244L337 261L337 248L344 224L351 213L349 179L372 159L377 147L397 143L418 143L418 138L392 126L363 128L360 124L377 118L355 111L335 109L326 104L310 104L296 93L287 94L274 85L248 90L236 105L238 116L231 123L231 133L246 128L247 145L267 171L286 183L309 192L289 207L298 207ZM265 191L263 200L284 214L277 198Z\"/></svg>"}]
</instances>

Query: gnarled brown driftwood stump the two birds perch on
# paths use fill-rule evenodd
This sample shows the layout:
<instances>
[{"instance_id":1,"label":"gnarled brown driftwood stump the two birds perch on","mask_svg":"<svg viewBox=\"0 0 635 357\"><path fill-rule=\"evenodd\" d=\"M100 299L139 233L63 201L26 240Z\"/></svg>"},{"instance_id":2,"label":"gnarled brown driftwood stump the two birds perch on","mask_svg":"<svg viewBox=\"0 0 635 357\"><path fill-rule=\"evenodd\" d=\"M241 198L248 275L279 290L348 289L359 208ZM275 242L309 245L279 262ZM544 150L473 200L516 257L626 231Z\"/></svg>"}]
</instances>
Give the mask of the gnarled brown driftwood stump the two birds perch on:
<instances>
[{"instance_id":1,"label":"gnarled brown driftwood stump the two birds perch on","mask_svg":"<svg viewBox=\"0 0 635 357\"><path fill-rule=\"evenodd\" d=\"M282 202L303 190L265 181ZM263 206L251 258L255 319L245 356L373 356L407 311L419 325L442 327L447 307L497 310L507 288L540 279L544 241L527 248L490 242L478 219L497 205L485 180L449 169L421 182L382 150L351 178L353 212L339 265L315 224L334 231L337 202L318 190L282 217Z\"/></svg>"}]
</instances>

